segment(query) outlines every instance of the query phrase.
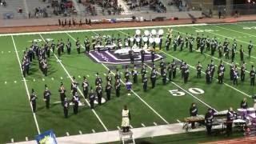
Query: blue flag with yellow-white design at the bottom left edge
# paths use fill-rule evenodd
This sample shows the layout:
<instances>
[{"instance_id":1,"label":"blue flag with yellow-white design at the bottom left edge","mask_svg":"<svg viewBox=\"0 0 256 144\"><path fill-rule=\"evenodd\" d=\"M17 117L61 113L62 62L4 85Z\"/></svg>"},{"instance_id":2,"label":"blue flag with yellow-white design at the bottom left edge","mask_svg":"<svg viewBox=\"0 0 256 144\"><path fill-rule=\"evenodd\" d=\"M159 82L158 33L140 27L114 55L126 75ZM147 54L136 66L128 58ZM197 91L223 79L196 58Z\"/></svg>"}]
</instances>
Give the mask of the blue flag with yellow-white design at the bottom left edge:
<instances>
[{"instance_id":1,"label":"blue flag with yellow-white design at the bottom left edge","mask_svg":"<svg viewBox=\"0 0 256 144\"><path fill-rule=\"evenodd\" d=\"M55 134L53 130L48 130L42 134L35 137L38 144L57 144Z\"/></svg>"}]
</instances>

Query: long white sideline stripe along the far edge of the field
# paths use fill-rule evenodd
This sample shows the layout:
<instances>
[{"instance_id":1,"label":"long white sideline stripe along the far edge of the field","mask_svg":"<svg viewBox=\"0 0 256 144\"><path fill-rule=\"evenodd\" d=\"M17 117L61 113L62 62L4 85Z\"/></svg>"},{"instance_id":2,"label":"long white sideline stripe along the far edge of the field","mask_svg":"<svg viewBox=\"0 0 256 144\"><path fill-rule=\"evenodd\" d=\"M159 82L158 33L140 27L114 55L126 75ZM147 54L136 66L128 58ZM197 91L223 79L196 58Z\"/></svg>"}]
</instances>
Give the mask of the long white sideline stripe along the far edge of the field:
<instances>
[{"instance_id":1,"label":"long white sideline stripe along the far edge of the field","mask_svg":"<svg viewBox=\"0 0 256 144\"><path fill-rule=\"evenodd\" d=\"M31 35L31 34L62 34L62 33L79 33L90 31L110 31L110 30L136 30L136 29L154 29L154 28L168 28L168 27L182 27L182 26L206 26L206 23L198 24L186 24L186 25L172 25L172 26L141 26L141 27L122 27L122 28L110 28L110 29L91 29L91 30L62 30L62 31L42 31L42 32L30 32L30 33L16 33L16 34L0 34L3 36L16 36L16 35Z\"/></svg>"}]
</instances>

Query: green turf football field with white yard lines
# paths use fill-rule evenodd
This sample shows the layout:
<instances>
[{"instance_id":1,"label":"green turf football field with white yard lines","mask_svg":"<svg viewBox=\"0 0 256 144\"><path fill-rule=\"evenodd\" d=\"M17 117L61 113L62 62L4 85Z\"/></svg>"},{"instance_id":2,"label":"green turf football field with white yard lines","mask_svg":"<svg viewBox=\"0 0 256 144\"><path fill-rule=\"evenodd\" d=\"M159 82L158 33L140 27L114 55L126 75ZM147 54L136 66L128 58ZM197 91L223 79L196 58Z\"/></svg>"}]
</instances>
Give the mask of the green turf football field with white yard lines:
<instances>
[{"instance_id":1,"label":"green turf football field with white yard lines","mask_svg":"<svg viewBox=\"0 0 256 144\"><path fill-rule=\"evenodd\" d=\"M230 65L231 59L222 57L222 62L226 67L224 83L218 84L217 73L214 74L214 82L210 85L206 84L204 71L207 64L213 60L216 68L221 59L218 58L218 51L214 56L210 55L210 51L204 51L200 54L197 50L192 53L185 48L180 51L165 49L165 41L167 30L172 28L173 36L178 32L185 37L185 34L209 35L210 38L218 38L223 42L228 39L230 45L234 38L238 42L238 50L240 45L245 50L246 62L246 80L241 82L238 79L238 86L230 81ZM78 54L75 47L76 39L79 38L82 43L82 51L84 50L84 38L92 38L95 36L114 35L114 37L134 36L135 30L164 30L162 50L158 50L157 54L162 56L166 62L185 61L190 66L189 81L185 84L181 73L178 70L177 77L172 82L162 85L162 78L158 75L157 86L151 89L150 80L149 88L146 92L142 88L142 77L138 76L138 84L134 84L130 95L125 88L125 66L129 66L130 70L134 65L122 63L103 63L96 62L89 54ZM35 59L30 66L30 75L26 78L22 77L21 64L23 50L29 48L32 41L37 41L39 46L46 41L57 42L63 39L66 43L67 39L72 42L71 54L62 54L58 59L57 53L51 53L48 58L49 68L48 76L44 76L39 70L38 60ZM90 134L108 130L118 130L122 122L122 108L127 105L131 113L131 126L134 128L143 126L165 125L170 123L182 122L189 116L189 109L192 102L198 106L198 114L205 114L208 107L217 111L227 110L232 106L235 110L239 108L243 98L247 98L249 106L253 106L251 96L256 94L255 86L250 86L250 67L256 64L256 50L252 50L251 57L248 58L248 49L250 40L256 42L256 22L241 22L232 24L198 24L198 25L181 25L181 26L149 26L137 28L117 28L117 29L100 29L100 30L71 30L71 31L55 31L42 33L26 33L26 34L0 34L0 143L33 140L34 136L46 130L54 130L57 137L77 134ZM173 42L171 42L173 46ZM196 42L194 42L194 49ZM66 49L66 48L65 48ZM66 50L65 50L66 51ZM202 78L197 78L197 63L202 63ZM155 62L159 68L159 62ZM237 52L234 63L240 68L239 52ZM138 70L140 71L140 63ZM121 71L122 90L119 98L115 97L112 90L111 100L95 106L94 110L89 107L88 99L82 95L83 77L89 80L90 86L94 87L95 74L98 73L103 79L102 86L106 86L106 74L109 70L115 73L115 70ZM152 69L150 62L146 63L148 76ZM238 70L240 73L240 70ZM160 73L160 70L158 70ZM63 108L60 104L58 89L63 82L66 87L66 95L70 100L70 83L72 77L79 82L78 94L82 105L79 106L78 114L73 114L73 106L70 106L69 118L64 118ZM46 109L43 101L43 91L45 84L50 89L52 96L50 98L50 109ZM37 112L32 113L30 105L31 90L34 89L38 95ZM106 98L106 93L103 93Z\"/></svg>"}]
</instances>

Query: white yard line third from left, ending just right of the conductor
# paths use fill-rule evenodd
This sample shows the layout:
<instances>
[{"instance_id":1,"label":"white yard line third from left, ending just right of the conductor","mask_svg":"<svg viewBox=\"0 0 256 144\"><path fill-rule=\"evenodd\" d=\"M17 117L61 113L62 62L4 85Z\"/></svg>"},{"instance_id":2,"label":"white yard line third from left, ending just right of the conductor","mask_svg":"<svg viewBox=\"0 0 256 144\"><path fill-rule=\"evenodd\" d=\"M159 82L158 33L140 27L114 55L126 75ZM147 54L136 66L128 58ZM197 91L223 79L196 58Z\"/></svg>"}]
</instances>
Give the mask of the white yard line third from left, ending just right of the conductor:
<instances>
[{"instance_id":1,"label":"white yard line third from left, ending just right of the conductor","mask_svg":"<svg viewBox=\"0 0 256 144\"><path fill-rule=\"evenodd\" d=\"M68 36L70 36L70 38L72 38L75 41L75 38L72 37L70 34L66 33ZM94 34L97 34L94 32ZM97 34L98 35L98 34ZM82 46L83 49L85 49L84 46ZM104 63L101 63L102 66L104 66L106 68L106 70L110 70ZM110 70L110 72L112 74L114 74L113 71ZM123 82L122 80L120 80L120 82L122 82L123 85L126 85L125 82ZM162 121L166 122L166 124L169 124L169 122L166 121L165 118L163 118L160 114L158 114L158 112L156 110L154 110L147 102L145 102L137 93L134 92L134 90L130 90L137 98L139 98L146 106L148 106L150 108L150 110L152 110L154 112L154 114L157 114L159 118L162 119Z\"/></svg>"}]
</instances>

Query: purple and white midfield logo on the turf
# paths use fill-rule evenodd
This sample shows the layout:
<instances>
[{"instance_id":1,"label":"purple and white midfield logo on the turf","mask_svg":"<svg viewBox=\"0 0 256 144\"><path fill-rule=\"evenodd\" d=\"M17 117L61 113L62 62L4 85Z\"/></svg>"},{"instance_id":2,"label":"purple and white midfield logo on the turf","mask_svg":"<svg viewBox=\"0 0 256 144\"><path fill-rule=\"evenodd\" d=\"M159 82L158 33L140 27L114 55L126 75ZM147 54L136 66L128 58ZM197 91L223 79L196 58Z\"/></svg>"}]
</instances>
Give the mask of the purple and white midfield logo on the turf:
<instances>
[{"instance_id":1,"label":"purple and white midfield logo on the turf","mask_svg":"<svg viewBox=\"0 0 256 144\"><path fill-rule=\"evenodd\" d=\"M134 51L134 62L142 62L140 51ZM130 57L127 50L115 50L115 51L90 51L88 54L91 59L98 63L106 64L129 64ZM154 55L154 61L158 61L162 58L160 54ZM144 62L151 62L151 54L145 50Z\"/></svg>"}]
</instances>

